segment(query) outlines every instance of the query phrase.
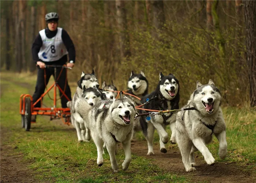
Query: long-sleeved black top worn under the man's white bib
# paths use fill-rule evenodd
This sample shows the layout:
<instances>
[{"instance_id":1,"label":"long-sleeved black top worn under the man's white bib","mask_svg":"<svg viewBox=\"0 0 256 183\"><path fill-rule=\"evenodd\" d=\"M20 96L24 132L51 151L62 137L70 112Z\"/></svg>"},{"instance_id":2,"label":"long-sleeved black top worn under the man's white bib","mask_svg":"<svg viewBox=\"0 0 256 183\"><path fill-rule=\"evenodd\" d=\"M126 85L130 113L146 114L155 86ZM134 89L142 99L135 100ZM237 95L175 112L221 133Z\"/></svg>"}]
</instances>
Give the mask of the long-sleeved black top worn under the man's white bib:
<instances>
[{"instance_id":1,"label":"long-sleeved black top worn under the man's white bib","mask_svg":"<svg viewBox=\"0 0 256 183\"><path fill-rule=\"evenodd\" d=\"M56 36L57 30L58 29L56 29L56 31L50 31L48 28L46 28L45 34L50 39L50 38ZM73 60L73 63L75 63L75 56L76 56L75 46L74 46L71 38L69 37L67 31L65 31L64 29L62 29L61 38L62 38L63 43L68 51L69 61ZM32 44L32 57L33 57L33 60L35 61L35 63L37 63L37 61L42 61L38 57L38 52L39 52L40 48L42 47L42 45L43 45L42 38L41 38L40 34L38 33L37 37L34 40L34 43ZM48 65L63 65L67 62L67 55L64 55L63 57L61 57L61 59L56 60L56 61L49 61L49 62L42 61L42 62L44 62L45 64L48 64Z\"/></svg>"}]
</instances>

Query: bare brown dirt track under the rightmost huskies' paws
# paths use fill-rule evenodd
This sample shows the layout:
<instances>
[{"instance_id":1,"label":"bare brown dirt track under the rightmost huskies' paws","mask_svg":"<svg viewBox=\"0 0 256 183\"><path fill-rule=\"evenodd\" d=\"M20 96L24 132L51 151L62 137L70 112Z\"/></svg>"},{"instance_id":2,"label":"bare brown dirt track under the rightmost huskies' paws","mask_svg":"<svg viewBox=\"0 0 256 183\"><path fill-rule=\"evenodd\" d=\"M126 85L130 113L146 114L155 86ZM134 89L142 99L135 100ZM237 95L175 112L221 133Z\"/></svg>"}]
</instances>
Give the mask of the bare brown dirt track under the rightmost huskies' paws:
<instances>
[{"instance_id":1,"label":"bare brown dirt track under the rightmost huskies' paws","mask_svg":"<svg viewBox=\"0 0 256 183\"><path fill-rule=\"evenodd\" d=\"M169 143L168 143L169 144ZM167 145L168 146L168 145ZM167 147L166 146L166 147ZM214 166L208 166L202 156L195 157L197 163L195 172L185 172L182 163L182 158L178 148L170 145L166 154L160 152L159 145L154 145L153 156L147 156L147 142L146 140L136 140L132 142L131 151L139 156L152 159L152 163L168 172L173 172L177 175L188 176L192 182L207 182L207 183L249 183L256 182L256 176L251 175L246 171L245 166L240 166L237 163L222 163L216 162Z\"/></svg>"}]
</instances>

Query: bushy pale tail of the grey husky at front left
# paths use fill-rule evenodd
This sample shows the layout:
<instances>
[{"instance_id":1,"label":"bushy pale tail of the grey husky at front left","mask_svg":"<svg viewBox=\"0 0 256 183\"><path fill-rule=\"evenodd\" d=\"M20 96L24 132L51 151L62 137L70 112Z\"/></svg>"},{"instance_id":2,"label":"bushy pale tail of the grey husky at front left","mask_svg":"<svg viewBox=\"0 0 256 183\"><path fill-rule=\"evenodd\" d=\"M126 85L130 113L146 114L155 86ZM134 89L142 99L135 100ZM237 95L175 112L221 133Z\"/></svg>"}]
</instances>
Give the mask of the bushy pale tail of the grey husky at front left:
<instances>
[{"instance_id":1,"label":"bushy pale tail of the grey husky at front left","mask_svg":"<svg viewBox=\"0 0 256 183\"><path fill-rule=\"evenodd\" d=\"M76 112L83 118L83 120L87 120L89 111L91 110L91 106L87 103L84 98L79 98L75 103Z\"/></svg>"}]
</instances>

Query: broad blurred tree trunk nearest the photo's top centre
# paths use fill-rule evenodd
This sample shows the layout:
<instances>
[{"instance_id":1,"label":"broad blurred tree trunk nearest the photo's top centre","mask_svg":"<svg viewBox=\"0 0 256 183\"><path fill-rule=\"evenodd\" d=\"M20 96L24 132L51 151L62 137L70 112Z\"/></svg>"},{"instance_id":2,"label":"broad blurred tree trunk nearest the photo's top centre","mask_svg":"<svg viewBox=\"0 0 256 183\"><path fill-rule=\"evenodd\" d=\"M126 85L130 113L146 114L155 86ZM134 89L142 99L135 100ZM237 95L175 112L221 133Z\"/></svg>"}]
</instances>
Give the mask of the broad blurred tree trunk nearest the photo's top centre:
<instances>
[{"instance_id":1,"label":"broad blurred tree trunk nearest the photo's top centre","mask_svg":"<svg viewBox=\"0 0 256 183\"><path fill-rule=\"evenodd\" d=\"M131 56L129 34L127 32L127 19L124 0L116 0L117 24L119 29L119 42L121 58Z\"/></svg>"}]
</instances>

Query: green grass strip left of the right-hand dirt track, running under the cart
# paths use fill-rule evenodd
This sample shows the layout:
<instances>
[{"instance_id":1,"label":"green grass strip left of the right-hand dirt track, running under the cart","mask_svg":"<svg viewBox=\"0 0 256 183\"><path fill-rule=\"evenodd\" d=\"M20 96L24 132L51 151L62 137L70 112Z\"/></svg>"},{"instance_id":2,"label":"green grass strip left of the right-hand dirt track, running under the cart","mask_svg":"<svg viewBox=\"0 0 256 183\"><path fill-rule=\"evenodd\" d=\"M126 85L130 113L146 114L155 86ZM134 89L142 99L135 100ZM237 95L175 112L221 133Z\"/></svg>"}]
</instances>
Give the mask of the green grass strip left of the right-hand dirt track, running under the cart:
<instances>
[{"instance_id":1,"label":"green grass strip left of the right-hand dirt track, running under the cart","mask_svg":"<svg viewBox=\"0 0 256 183\"><path fill-rule=\"evenodd\" d=\"M50 122L49 117L37 118L31 131L21 128L19 115L19 96L33 94L35 76L13 75L1 73L0 127L7 131L6 146L14 148L14 153L22 152L26 161L31 161L29 168L35 171L40 182L189 182L188 178L178 176L161 169L153 160L132 154L132 162L128 170L123 171L123 149L117 154L120 172L114 174L109 155L103 156L102 167L97 166L97 150L93 142L77 143L76 131L61 123ZM29 83L29 88L19 85L19 82ZM50 83L52 80L50 80ZM49 84L50 84L49 83ZM74 94L74 88L72 93ZM32 92L32 93L31 93ZM44 104L52 101L44 98Z\"/></svg>"}]
</instances>

